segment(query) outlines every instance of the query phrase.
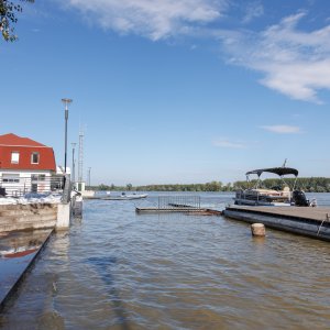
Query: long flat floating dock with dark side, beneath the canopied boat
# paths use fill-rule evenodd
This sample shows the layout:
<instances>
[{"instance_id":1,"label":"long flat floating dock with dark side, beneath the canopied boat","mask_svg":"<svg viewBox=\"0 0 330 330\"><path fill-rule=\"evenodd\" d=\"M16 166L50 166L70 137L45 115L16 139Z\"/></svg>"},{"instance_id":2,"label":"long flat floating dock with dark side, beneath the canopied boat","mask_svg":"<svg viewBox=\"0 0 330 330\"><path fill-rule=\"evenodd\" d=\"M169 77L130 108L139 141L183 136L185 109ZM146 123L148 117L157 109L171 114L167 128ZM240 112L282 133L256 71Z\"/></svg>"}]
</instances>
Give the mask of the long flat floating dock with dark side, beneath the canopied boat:
<instances>
[{"instance_id":1,"label":"long flat floating dock with dark side, beneath the canopied boat","mask_svg":"<svg viewBox=\"0 0 330 330\"><path fill-rule=\"evenodd\" d=\"M330 208L229 206L228 218L330 242Z\"/></svg>"}]
</instances>

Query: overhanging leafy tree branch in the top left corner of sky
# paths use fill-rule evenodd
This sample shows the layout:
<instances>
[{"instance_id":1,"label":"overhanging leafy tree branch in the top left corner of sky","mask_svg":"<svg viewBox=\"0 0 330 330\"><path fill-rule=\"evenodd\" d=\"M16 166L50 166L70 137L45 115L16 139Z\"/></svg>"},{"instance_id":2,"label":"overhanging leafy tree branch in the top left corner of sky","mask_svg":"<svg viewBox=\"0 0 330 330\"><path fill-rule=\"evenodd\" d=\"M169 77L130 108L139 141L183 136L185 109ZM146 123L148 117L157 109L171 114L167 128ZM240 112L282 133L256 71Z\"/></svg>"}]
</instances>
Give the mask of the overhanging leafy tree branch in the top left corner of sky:
<instances>
[{"instance_id":1,"label":"overhanging leafy tree branch in the top left corner of sky","mask_svg":"<svg viewBox=\"0 0 330 330\"><path fill-rule=\"evenodd\" d=\"M21 2L34 2L34 0L20 0ZM14 1L0 0L0 31L4 41L13 42L18 38L13 25L18 22L16 14L22 12L21 4Z\"/></svg>"}]
</instances>

